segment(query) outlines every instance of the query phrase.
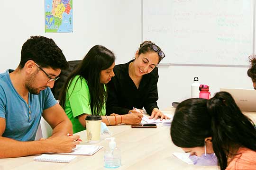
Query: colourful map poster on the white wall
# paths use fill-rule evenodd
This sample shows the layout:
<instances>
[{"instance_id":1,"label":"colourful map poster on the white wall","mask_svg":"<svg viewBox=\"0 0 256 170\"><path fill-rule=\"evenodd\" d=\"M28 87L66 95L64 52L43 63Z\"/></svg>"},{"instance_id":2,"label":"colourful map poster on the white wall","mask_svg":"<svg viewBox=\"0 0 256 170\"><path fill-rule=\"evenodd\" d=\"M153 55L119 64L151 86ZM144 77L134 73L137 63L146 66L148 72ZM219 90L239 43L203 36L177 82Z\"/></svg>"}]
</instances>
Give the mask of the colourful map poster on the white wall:
<instances>
[{"instance_id":1,"label":"colourful map poster on the white wall","mask_svg":"<svg viewBox=\"0 0 256 170\"><path fill-rule=\"evenodd\" d=\"M73 0L45 0L45 32L73 32Z\"/></svg>"}]
</instances>

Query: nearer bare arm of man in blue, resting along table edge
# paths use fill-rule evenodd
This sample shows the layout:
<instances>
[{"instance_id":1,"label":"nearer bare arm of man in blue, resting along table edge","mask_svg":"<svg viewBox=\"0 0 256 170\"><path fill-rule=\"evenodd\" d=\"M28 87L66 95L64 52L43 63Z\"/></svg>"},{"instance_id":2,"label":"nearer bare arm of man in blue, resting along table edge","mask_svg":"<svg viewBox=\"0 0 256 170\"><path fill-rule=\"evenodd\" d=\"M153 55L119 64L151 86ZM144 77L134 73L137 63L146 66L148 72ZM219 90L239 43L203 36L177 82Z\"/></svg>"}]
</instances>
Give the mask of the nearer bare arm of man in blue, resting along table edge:
<instances>
[{"instance_id":1,"label":"nearer bare arm of man in blue, resting along table edge","mask_svg":"<svg viewBox=\"0 0 256 170\"><path fill-rule=\"evenodd\" d=\"M41 141L21 142L3 137L6 128L5 119L0 118L0 158L27 156L39 153L68 153L79 144L80 136L57 136Z\"/></svg>"}]
</instances>

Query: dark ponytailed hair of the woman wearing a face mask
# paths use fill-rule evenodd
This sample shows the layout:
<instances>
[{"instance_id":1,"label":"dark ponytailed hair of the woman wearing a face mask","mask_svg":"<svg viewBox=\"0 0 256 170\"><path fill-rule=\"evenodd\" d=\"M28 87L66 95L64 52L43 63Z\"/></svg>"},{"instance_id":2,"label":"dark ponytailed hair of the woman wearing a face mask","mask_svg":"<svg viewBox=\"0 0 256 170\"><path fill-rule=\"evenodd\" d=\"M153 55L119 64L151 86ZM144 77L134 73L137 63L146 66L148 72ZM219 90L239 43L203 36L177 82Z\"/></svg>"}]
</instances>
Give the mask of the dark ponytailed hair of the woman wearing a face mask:
<instances>
[{"instance_id":1,"label":"dark ponytailed hair of the woman wearing a face mask","mask_svg":"<svg viewBox=\"0 0 256 170\"><path fill-rule=\"evenodd\" d=\"M175 145L204 146L204 139L210 136L221 170L227 168L228 157L234 154L232 149L243 146L256 151L255 124L228 92L216 93L210 100L187 99L177 106L171 126Z\"/></svg>"}]
</instances>

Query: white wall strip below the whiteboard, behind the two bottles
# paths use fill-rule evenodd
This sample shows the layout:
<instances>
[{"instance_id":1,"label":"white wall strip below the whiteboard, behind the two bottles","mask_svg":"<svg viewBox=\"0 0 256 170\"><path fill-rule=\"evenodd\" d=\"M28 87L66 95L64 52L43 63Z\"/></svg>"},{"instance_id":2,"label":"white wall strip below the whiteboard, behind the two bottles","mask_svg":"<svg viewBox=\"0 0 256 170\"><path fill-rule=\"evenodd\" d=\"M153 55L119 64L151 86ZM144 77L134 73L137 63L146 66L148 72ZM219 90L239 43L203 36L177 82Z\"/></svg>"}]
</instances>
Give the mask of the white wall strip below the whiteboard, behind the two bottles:
<instances>
[{"instance_id":1,"label":"white wall strip below the whiteboard, behind the two bottles","mask_svg":"<svg viewBox=\"0 0 256 170\"><path fill-rule=\"evenodd\" d=\"M190 98L190 87L194 76L201 84L210 85L210 92L219 92L219 88L253 88L247 76L248 68L202 67L202 66L161 66L159 67L158 104L166 108L172 102L181 102Z\"/></svg>"}]
</instances>

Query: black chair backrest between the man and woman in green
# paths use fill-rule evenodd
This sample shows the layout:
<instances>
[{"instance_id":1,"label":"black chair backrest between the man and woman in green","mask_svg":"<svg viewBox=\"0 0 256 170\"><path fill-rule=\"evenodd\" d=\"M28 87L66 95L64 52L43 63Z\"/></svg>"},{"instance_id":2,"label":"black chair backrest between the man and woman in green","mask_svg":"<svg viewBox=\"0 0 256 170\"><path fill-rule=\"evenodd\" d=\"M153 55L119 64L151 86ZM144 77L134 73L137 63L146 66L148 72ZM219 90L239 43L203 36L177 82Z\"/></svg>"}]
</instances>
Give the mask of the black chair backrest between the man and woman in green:
<instances>
[{"instance_id":1,"label":"black chair backrest between the man and woman in green","mask_svg":"<svg viewBox=\"0 0 256 170\"><path fill-rule=\"evenodd\" d=\"M66 82L67 77L73 71L74 68L80 63L81 60L68 61L68 69L61 70L60 78L55 82L54 87L51 89L56 100L59 100L61 88Z\"/></svg>"}]
</instances>

